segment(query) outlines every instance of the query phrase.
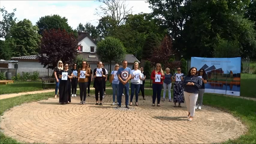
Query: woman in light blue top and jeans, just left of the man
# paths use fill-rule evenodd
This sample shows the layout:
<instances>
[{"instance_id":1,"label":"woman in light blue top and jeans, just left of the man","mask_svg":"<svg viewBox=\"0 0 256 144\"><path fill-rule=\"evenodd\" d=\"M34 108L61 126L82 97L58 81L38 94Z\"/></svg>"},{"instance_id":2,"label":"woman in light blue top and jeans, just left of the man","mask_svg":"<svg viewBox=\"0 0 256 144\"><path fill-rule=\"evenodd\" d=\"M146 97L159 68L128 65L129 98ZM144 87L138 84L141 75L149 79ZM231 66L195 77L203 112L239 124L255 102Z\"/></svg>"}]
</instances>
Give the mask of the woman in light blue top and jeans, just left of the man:
<instances>
[{"instance_id":1,"label":"woman in light blue top and jeans, just left of the man","mask_svg":"<svg viewBox=\"0 0 256 144\"><path fill-rule=\"evenodd\" d=\"M117 71L119 69L119 64L115 65L115 70L111 72L111 79L112 81L112 90L113 90L113 104L115 105L115 101L116 101L116 91L117 91L117 101L118 101L118 95L119 95L119 79L118 79L118 75L117 75ZM117 102L118 103L118 102Z\"/></svg>"}]
</instances>

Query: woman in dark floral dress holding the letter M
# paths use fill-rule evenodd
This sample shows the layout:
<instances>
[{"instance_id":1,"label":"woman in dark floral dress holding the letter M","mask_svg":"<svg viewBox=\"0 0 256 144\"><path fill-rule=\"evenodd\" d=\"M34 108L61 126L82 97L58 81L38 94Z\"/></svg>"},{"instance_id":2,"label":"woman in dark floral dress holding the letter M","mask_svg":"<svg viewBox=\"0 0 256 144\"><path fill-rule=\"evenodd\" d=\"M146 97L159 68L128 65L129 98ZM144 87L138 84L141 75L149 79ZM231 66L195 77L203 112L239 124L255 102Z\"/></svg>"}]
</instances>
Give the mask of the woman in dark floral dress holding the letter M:
<instances>
[{"instance_id":1,"label":"woman in dark floral dress holding the letter M","mask_svg":"<svg viewBox=\"0 0 256 144\"><path fill-rule=\"evenodd\" d=\"M176 103L178 102L178 107L181 107L181 103L184 103L184 93L183 93L183 86L182 81L176 81L176 74L181 74L181 80L183 81L184 74L181 72L181 68L177 68L177 73L174 73L174 107L176 106Z\"/></svg>"}]
</instances>

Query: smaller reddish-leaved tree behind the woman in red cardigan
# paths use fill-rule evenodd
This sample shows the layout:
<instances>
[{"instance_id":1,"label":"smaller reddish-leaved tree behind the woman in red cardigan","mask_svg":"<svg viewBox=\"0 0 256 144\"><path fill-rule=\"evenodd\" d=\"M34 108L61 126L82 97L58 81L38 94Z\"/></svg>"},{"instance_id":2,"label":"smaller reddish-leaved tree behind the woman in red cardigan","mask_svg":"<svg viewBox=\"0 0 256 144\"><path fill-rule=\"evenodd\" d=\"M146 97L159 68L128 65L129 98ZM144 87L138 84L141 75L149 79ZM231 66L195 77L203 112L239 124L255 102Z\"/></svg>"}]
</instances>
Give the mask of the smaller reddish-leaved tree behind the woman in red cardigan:
<instances>
[{"instance_id":1,"label":"smaller reddish-leaved tree behind the woman in red cardigan","mask_svg":"<svg viewBox=\"0 0 256 144\"><path fill-rule=\"evenodd\" d=\"M174 54L172 47L172 37L165 36L160 47L154 49L154 54L152 54L150 62L155 65L156 63L161 63L163 68L170 67L169 59Z\"/></svg>"}]
</instances>

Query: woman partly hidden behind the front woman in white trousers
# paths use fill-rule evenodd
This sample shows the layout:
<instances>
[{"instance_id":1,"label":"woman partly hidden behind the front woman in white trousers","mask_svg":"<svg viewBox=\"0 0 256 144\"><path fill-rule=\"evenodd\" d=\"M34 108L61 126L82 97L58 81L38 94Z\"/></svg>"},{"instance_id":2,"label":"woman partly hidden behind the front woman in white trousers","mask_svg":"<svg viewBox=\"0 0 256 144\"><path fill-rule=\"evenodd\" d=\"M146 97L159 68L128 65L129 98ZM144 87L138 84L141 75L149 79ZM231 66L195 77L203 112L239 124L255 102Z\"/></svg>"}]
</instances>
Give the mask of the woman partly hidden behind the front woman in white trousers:
<instances>
[{"instance_id":1,"label":"woman partly hidden behind the front woman in white trousers","mask_svg":"<svg viewBox=\"0 0 256 144\"><path fill-rule=\"evenodd\" d=\"M202 80L202 87L199 89L198 99L196 101L196 109L201 109L202 99L204 94L204 84L207 83L207 74L203 68L201 68L197 74Z\"/></svg>"}]
</instances>

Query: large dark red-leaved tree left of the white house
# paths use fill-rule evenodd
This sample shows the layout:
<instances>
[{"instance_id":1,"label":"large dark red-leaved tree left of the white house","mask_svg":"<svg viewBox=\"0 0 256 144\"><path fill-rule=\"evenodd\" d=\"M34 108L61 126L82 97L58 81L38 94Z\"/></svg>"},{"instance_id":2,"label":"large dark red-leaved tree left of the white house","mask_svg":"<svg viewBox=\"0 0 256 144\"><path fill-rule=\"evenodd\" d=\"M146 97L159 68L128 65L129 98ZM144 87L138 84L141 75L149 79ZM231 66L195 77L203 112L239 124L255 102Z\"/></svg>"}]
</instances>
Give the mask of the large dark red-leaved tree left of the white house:
<instances>
[{"instance_id":1,"label":"large dark red-leaved tree left of the white house","mask_svg":"<svg viewBox=\"0 0 256 144\"><path fill-rule=\"evenodd\" d=\"M37 58L45 68L54 69L59 60L73 63L78 54L77 46L78 41L73 33L68 33L65 29L45 30Z\"/></svg>"}]
</instances>

